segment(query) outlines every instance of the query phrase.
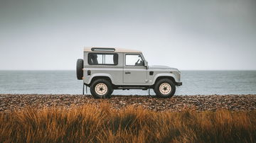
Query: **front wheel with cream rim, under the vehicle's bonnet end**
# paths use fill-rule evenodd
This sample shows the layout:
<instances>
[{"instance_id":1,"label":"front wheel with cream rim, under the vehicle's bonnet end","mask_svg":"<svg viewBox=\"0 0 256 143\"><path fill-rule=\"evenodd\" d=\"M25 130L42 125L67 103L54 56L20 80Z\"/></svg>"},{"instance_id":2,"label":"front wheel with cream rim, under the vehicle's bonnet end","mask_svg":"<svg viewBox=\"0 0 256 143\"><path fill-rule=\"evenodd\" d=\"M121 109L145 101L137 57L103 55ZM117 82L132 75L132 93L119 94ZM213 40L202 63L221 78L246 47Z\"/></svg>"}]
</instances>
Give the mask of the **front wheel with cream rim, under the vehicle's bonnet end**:
<instances>
[{"instance_id":1,"label":"front wheel with cream rim, under the vehicle's bonnet end","mask_svg":"<svg viewBox=\"0 0 256 143\"><path fill-rule=\"evenodd\" d=\"M160 79L154 86L154 92L159 98L171 98L175 91L176 86L170 79Z\"/></svg>"}]
</instances>

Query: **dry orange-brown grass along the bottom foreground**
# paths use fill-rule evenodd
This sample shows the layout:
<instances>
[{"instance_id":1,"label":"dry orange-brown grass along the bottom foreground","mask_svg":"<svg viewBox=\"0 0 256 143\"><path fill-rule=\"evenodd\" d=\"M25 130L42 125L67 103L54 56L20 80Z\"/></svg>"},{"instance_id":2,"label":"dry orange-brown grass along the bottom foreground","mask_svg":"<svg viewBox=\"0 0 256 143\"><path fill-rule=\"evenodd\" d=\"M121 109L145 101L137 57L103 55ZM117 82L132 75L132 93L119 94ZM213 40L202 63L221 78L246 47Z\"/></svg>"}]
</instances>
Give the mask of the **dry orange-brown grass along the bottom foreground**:
<instances>
[{"instance_id":1,"label":"dry orange-brown grass along the bottom foreground","mask_svg":"<svg viewBox=\"0 0 256 143\"><path fill-rule=\"evenodd\" d=\"M0 135L0 142L256 142L256 111L27 108L0 113Z\"/></svg>"}]
</instances>

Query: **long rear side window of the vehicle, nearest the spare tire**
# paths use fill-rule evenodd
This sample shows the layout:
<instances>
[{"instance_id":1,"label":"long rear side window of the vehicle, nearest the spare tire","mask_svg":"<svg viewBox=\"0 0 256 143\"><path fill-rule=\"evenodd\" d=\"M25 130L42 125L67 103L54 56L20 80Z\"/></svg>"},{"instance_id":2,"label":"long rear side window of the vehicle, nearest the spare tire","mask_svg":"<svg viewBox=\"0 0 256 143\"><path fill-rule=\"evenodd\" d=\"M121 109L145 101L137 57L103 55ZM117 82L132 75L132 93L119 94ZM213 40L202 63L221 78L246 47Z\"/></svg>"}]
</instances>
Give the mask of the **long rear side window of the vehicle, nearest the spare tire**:
<instances>
[{"instance_id":1,"label":"long rear side window of the vehicle, nearest the spare tire","mask_svg":"<svg viewBox=\"0 0 256 143\"><path fill-rule=\"evenodd\" d=\"M117 65L118 55L117 54L103 54L103 53L89 53L88 64L99 64L99 65Z\"/></svg>"}]
</instances>

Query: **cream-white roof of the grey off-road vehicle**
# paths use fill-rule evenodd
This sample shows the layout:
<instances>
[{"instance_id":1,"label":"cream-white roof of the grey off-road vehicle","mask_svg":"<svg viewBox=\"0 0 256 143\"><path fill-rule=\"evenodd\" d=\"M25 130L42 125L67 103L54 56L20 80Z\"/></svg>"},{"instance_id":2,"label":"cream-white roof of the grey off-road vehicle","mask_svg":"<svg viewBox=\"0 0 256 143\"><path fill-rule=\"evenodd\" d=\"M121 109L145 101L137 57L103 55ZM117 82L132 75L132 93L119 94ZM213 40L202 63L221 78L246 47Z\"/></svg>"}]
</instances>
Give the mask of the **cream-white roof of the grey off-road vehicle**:
<instances>
[{"instance_id":1,"label":"cream-white roof of the grey off-road vehicle","mask_svg":"<svg viewBox=\"0 0 256 143\"><path fill-rule=\"evenodd\" d=\"M85 47L84 52L142 52L139 50L129 50L117 47Z\"/></svg>"}]
</instances>

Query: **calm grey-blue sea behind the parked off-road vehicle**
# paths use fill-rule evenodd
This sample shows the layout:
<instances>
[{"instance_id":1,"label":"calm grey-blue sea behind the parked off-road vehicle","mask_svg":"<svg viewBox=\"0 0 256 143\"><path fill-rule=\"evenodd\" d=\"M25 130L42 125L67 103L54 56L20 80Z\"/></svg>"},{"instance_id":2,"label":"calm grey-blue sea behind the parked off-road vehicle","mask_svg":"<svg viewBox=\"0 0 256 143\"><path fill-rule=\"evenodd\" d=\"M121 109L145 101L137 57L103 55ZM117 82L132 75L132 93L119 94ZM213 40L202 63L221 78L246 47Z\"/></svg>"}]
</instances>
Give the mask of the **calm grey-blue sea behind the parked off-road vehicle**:
<instances>
[{"instance_id":1,"label":"calm grey-blue sea behind the parked off-road vehicle","mask_svg":"<svg viewBox=\"0 0 256 143\"><path fill-rule=\"evenodd\" d=\"M175 95L256 94L256 71L181 71ZM90 94L90 89L88 88ZM75 71L0 71L1 94L82 94ZM114 90L114 95L148 95L149 91ZM151 95L155 95L150 90Z\"/></svg>"}]
</instances>

